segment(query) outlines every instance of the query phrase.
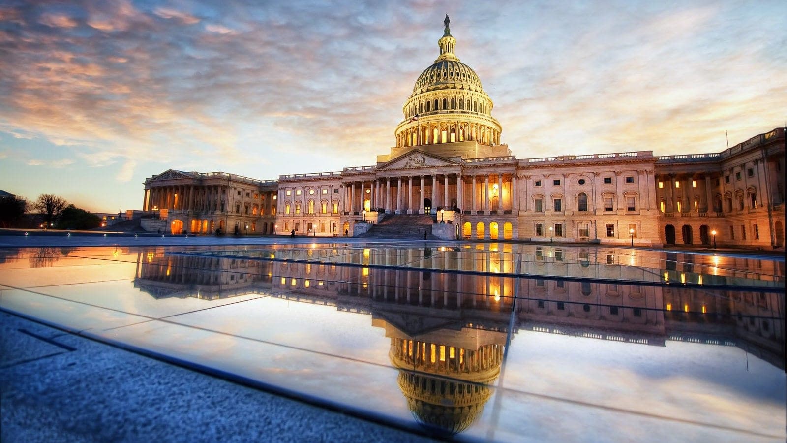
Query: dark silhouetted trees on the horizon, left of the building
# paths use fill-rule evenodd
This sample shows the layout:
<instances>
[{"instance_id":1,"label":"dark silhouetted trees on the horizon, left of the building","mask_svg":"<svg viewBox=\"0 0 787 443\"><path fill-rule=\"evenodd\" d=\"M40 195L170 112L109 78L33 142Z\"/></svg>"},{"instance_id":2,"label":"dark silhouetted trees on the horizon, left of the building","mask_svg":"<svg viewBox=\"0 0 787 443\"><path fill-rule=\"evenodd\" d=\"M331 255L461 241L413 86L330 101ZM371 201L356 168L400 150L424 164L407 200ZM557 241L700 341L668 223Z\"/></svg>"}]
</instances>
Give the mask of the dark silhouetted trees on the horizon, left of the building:
<instances>
[{"instance_id":1,"label":"dark silhouetted trees on the horizon, left of the building","mask_svg":"<svg viewBox=\"0 0 787 443\"><path fill-rule=\"evenodd\" d=\"M28 214L28 210L38 216ZM94 229L100 225L101 217L68 203L59 195L42 194L35 202L19 195L0 197L2 228Z\"/></svg>"}]
</instances>

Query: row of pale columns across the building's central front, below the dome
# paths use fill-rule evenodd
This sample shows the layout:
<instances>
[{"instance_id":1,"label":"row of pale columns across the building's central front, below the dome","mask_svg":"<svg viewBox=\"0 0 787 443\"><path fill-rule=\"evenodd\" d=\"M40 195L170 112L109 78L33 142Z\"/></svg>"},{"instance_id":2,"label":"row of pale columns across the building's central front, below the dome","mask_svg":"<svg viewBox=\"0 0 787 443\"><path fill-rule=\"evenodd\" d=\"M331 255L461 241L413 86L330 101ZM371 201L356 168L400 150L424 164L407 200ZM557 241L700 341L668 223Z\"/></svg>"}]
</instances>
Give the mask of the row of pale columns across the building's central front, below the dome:
<instances>
[{"instance_id":1,"label":"row of pale columns across the building's central front, below the dome","mask_svg":"<svg viewBox=\"0 0 787 443\"><path fill-rule=\"evenodd\" d=\"M442 175L442 181L438 181L438 175ZM483 181L478 181L477 175L470 176L471 187L471 202L469 205L470 210L484 210L490 211L490 205L493 197L493 188L490 186L490 174L480 174ZM497 175L497 197L498 209L502 210L505 205L503 199L503 175ZM450 192L450 184L452 181L456 182L456 192ZM431 177L431 188L427 195L426 189L429 186L429 177ZM415 182L415 183L414 183ZM516 175L510 174L510 188L508 192L508 209L518 210L519 204L515 198L516 194ZM392 186L393 184L393 186ZM414 186L415 184L415 186ZM482 184L481 195L477 195L478 185ZM382 207L386 210L408 210L412 212L423 210L423 200L430 198L432 200L432 207L449 207L456 199L456 207L460 209L468 209L465 207L465 188L467 182L460 173L447 173L447 174L425 174L419 176L408 177L381 177L372 181L353 181L345 184L345 211L360 212L365 209L365 202L368 200L368 207ZM406 195L403 188L406 187ZM357 193L356 189L360 189ZM396 189L395 195L393 189ZM413 190L418 189L418 200L413 204ZM368 192L367 192L368 190ZM346 194L349 193L349 194ZM405 200L406 199L406 200ZM479 201L480 199L480 201Z\"/></svg>"}]
</instances>

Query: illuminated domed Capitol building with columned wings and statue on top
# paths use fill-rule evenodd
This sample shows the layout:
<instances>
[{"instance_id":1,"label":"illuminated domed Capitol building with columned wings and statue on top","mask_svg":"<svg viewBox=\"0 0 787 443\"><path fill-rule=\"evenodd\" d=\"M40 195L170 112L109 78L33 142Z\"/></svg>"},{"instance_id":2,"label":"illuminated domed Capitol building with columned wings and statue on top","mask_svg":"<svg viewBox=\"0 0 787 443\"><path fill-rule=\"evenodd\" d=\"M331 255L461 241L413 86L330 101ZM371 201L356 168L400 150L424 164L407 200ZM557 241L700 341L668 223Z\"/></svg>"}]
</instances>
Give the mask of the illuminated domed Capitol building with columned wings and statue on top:
<instances>
[{"instance_id":1,"label":"illuminated domed Capitol building with columned wings and statue on top","mask_svg":"<svg viewBox=\"0 0 787 443\"><path fill-rule=\"evenodd\" d=\"M371 236L399 226L410 238L784 248L785 128L711 154L515 158L481 80L456 57L448 17L438 47L402 108L396 146L374 165L268 181L169 169L144 183L142 227Z\"/></svg>"}]
</instances>

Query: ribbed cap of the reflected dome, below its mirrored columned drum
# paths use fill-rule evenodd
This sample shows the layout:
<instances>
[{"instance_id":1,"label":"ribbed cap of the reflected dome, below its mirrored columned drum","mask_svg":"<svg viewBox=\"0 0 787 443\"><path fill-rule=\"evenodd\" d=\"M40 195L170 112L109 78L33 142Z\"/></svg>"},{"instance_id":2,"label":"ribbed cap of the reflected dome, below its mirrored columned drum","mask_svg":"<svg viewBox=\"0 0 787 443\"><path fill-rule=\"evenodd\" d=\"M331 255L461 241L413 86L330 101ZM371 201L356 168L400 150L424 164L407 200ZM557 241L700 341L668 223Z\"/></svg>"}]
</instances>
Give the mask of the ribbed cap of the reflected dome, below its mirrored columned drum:
<instances>
[{"instance_id":1,"label":"ribbed cap of the reflected dome, below its mirrored columned drum","mask_svg":"<svg viewBox=\"0 0 787 443\"><path fill-rule=\"evenodd\" d=\"M481 415L490 389L486 385L449 381L425 374L399 372L399 388L419 423L442 437L459 434Z\"/></svg>"}]
</instances>

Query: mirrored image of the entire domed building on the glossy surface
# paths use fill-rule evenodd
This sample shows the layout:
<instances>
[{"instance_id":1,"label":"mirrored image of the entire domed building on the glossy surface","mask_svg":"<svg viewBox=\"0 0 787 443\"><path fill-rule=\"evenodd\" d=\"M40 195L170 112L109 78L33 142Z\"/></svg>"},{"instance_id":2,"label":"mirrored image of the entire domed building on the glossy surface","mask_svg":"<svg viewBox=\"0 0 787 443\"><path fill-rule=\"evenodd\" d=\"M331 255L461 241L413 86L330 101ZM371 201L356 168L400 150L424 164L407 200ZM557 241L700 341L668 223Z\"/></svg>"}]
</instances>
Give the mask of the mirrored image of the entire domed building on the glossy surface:
<instances>
[{"instance_id":1,"label":"mirrored image of the entire domed building on the glossy surface","mask_svg":"<svg viewBox=\"0 0 787 443\"><path fill-rule=\"evenodd\" d=\"M473 259L461 259L451 249L348 249L358 255L353 267L143 253L135 286L157 298L269 293L371 315L372 326L390 338L390 362L400 371L398 385L408 407L438 435L461 432L481 415L491 396L489 385L501 371L509 328L512 334L524 329L656 346L667 341L737 345L784 368L779 293L499 277L494 274L515 271L515 255L508 245L500 245L502 251L496 245L484 248L492 251ZM364 266L381 254L400 265L421 259L434 269L491 274ZM320 249L275 251L276 259L329 255L330 250ZM563 267L560 275L587 272L584 258L558 265L554 259L545 256L549 266ZM670 272L696 270L690 260L678 262Z\"/></svg>"}]
</instances>

